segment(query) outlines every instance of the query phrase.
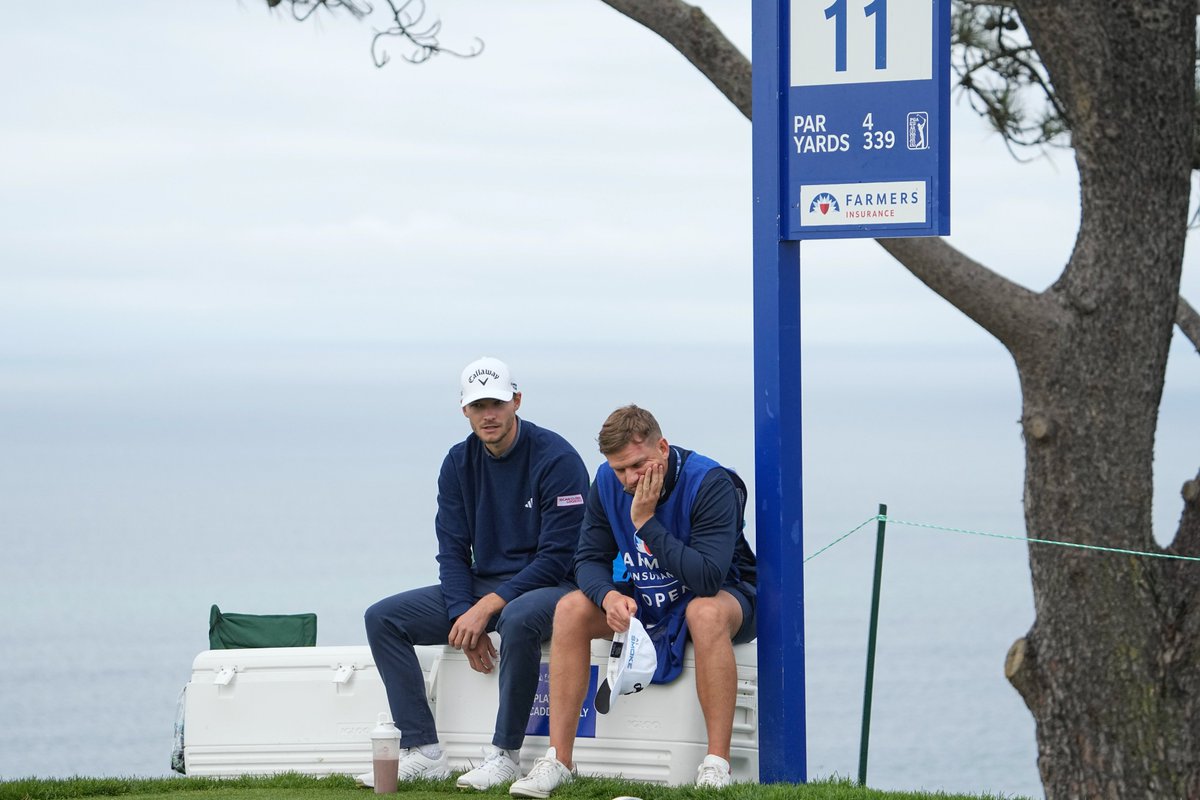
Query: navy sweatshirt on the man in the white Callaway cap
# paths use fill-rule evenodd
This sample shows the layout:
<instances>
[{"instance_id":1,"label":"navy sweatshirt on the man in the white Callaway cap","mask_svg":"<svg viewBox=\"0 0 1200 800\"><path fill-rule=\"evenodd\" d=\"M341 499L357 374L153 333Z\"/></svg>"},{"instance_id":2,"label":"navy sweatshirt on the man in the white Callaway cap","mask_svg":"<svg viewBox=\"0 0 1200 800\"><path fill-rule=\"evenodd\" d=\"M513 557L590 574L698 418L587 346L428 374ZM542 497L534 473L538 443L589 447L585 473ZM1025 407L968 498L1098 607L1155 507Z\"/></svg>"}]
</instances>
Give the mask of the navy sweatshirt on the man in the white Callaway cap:
<instances>
[{"instance_id":1,"label":"navy sweatshirt on the man in the white Callaway cap","mask_svg":"<svg viewBox=\"0 0 1200 800\"><path fill-rule=\"evenodd\" d=\"M438 476L438 579L455 619L475 603L472 577L502 578L505 602L571 576L588 473L565 439L517 419L500 457L474 433L446 453Z\"/></svg>"}]
</instances>

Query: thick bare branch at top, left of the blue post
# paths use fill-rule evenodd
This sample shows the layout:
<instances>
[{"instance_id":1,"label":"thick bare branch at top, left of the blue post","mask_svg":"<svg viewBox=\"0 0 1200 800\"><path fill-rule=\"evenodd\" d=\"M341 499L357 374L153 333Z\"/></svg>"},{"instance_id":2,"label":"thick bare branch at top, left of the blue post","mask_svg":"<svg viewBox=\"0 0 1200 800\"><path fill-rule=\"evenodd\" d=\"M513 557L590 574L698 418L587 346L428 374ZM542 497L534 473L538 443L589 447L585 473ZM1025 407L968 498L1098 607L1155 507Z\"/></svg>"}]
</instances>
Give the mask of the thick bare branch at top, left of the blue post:
<instances>
[{"instance_id":1,"label":"thick bare branch at top, left of the blue post","mask_svg":"<svg viewBox=\"0 0 1200 800\"><path fill-rule=\"evenodd\" d=\"M696 6L683 0L604 0L679 50L750 119L750 60Z\"/></svg>"}]
</instances>

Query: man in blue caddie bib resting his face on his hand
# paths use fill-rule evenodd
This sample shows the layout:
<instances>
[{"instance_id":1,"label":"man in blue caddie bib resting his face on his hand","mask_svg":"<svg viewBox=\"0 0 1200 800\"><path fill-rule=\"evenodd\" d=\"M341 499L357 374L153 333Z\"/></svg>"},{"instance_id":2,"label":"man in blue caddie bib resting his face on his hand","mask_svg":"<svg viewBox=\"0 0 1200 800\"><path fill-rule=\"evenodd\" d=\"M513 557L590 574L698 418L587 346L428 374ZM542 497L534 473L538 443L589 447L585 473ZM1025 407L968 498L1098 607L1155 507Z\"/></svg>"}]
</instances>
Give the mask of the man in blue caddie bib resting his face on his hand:
<instances>
[{"instance_id":1,"label":"man in blue caddie bib resting his face on his hand","mask_svg":"<svg viewBox=\"0 0 1200 800\"><path fill-rule=\"evenodd\" d=\"M670 445L654 416L636 405L605 420L599 445L605 463L588 492L575 554L580 590L554 610L551 746L509 792L548 798L575 777L575 730L588 688L592 639L623 634L635 619L654 642L655 682L678 676L684 645L692 642L708 735L696 784L727 786L737 702L733 645L750 642L756 631L756 563L743 534L744 485L712 458ZM617 558L626 578L619 583ZM630 687L608 688L611 702L617 696L612 691Z\"/></svg>"}]
</instances>

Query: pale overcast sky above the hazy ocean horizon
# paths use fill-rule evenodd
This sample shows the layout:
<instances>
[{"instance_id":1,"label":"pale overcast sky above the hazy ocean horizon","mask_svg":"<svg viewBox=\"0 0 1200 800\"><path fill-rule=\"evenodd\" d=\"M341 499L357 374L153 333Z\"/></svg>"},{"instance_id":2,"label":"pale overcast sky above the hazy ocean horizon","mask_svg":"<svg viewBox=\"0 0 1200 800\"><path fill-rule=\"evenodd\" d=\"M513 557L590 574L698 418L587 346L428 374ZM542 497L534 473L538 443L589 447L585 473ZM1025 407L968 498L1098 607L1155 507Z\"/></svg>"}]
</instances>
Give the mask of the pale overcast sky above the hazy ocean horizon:
<instances>
[{"instance_id":1,"label":"pale overcast sky above the hazy ocean horizon","mask_svg":"<svg viewBox=\"0 0 1200 800\"><path fill-rule=\"evenodd\" d=\"M749 49L745 2L706 10ZM479 37L484 54L377 70L378 16L300 24L258 0L11 8L0 390L12 408L112 393L151 362L211 384L349 379L390 349L409 354L406 380L436 383L457 367L412 354L569 348L560 374L636 383L670 374L677 343L748 348L750 124L599 1L431 0L430 16L444 44ZM950 243L1044 288L1078 224L1070 154L1020 164L961 102L953 120ZM1193 246L1193 302L1195 260ZM1007 354L877 245L805 243L802 261L814 386L882 377L928 403L964 375L922 365L954 350L998 375L1004 425L1016 419ZM1200 383L1178 339L1168 402ZM703 396L697 378L678 383ZM1195 429L1166 439L1194 443ZM1172 464L1169 492L1190 469Z\"/></svg>"}]
</instances>

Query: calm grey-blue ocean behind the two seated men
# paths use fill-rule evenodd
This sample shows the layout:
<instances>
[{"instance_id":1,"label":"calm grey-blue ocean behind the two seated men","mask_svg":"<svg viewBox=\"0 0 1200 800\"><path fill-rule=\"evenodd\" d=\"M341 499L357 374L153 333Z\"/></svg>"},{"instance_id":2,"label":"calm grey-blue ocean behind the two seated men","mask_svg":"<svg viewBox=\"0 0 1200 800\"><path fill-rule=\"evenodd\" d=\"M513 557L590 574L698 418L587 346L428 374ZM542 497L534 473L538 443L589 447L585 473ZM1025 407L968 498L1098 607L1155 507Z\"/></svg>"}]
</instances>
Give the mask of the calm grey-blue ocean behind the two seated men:
<instances>
[{"instance_id":1,"label":"calm grey-blue ocean behind the two seated men","mask_svg":"<svg viewBox=\"0 0 1200 800\"><path fill-rule=\"evenodd\" d=\"M749 345L672 347L625 377L563 348L505 355L522 415L589 467L599 422L636 401L668 440L752 475ZM355 354L240 350L216 375L146 355L68 365L73 385L43 371L2 401L0 778L168 775L212 603L316 612L318 644L364 644L366 606L434 579L434 481L468 432L456 377L479 353ZM931 391L938 373L955 380ZM1024 533L1002 354L814 347L804 378L805 553L881 501ZM874 541L872 522L804 566L812 778L857 775ZM1022 545L889 525L870 786L1042 796L1033 722L1003 678L1032 619Z\"/></svg>"}]
</instances>

